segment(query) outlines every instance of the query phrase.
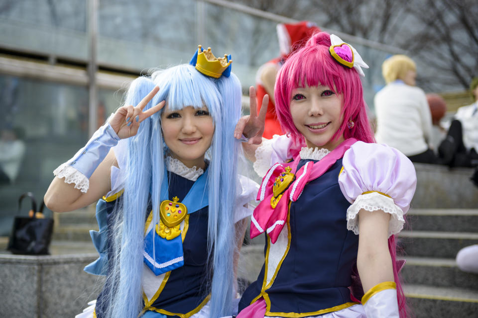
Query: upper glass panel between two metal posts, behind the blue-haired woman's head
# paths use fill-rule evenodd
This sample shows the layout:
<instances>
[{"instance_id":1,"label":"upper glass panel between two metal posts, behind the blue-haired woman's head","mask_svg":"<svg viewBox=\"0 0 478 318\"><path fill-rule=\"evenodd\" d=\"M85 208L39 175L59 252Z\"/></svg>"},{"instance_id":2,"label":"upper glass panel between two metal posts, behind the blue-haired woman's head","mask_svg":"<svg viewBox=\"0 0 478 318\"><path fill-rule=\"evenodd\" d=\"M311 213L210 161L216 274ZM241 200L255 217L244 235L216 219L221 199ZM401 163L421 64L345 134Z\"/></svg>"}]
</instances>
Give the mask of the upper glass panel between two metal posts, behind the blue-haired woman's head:
<instances>
[{"instance_id":1,"label":"upper glass panel between two metal posts, behind the blue-haired woman's head","mask_svg":"<svg viewBox=\"0 0 478 318\"><path fill-rule=\"evenodd\" d=\"M188 63L196 47L196 1L102 0L98 61L131 70Z\"/></svg>"}]
</instances>

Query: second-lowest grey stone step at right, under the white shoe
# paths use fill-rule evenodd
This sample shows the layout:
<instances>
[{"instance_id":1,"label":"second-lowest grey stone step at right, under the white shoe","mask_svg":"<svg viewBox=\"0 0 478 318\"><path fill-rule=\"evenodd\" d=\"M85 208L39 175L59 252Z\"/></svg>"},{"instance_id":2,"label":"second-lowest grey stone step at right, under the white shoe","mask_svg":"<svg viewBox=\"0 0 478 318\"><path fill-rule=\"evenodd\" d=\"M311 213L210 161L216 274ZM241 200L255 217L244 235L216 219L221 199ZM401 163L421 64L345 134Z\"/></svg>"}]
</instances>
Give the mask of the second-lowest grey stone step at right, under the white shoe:
<instances>
[{"instance_id":1,"label":"second-lowest grey stone step at right, under the white shoe","mask_svg":"<svg viewBox=\"0 0 478 318\"><path fill-rule=\"evenodd\" d=\"M405 283L478 290L478 274L461 271L455 259L406 257L401 276Z\"/></svg>"}]
</instances>

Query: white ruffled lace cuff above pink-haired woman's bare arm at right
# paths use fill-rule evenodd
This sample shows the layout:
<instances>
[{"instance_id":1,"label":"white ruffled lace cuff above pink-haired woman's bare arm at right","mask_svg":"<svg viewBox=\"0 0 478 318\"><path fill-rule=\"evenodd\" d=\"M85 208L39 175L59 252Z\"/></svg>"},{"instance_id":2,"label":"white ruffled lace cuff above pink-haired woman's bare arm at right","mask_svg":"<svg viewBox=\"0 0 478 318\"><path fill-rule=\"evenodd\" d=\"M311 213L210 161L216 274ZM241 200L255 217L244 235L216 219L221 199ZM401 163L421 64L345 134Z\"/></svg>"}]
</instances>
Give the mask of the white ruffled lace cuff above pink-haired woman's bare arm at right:
<instances>
[{"instance_id":1,"label":"white ruffled lace cuff above pink-haired woman's bare arm at right","mask_svg":"<svg viewBox=\"0 0 478 318\"><path fill-rule=\"evenodd\" d=\"M399 233L403 229L405 220L403 211L394 202L392 198L384 196L378 192L361 194L355 202L347 209L347 229L359 234L359 211L382 210L389 213L390 221L388 223L388 237Z\"/></svg>"}]
</instances>

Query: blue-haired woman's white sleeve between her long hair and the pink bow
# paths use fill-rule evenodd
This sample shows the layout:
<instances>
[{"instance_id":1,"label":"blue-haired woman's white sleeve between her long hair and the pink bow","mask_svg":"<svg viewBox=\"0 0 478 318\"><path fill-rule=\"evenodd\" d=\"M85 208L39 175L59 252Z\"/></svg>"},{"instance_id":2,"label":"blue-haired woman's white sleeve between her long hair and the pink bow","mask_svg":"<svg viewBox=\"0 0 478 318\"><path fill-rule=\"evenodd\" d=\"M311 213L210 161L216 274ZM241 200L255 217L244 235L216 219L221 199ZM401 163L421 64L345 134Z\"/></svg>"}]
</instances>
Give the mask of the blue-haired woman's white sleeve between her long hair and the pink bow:
<instances>
[{"instance_id":1,"label":"blue-haired woman's white sleeve between her long hair and the pink bow","mask_svg":"<svg viewBox=\"0 0 478 318\"><path fill-rule=\"evenodd\" d=\"M236 206L234 209L234 223L247 218L252 214L253 207L249 207L249 201L255 200L259 185L251 179L238 175L238 184L236 187Z\"/></svg>"}]
</instances>

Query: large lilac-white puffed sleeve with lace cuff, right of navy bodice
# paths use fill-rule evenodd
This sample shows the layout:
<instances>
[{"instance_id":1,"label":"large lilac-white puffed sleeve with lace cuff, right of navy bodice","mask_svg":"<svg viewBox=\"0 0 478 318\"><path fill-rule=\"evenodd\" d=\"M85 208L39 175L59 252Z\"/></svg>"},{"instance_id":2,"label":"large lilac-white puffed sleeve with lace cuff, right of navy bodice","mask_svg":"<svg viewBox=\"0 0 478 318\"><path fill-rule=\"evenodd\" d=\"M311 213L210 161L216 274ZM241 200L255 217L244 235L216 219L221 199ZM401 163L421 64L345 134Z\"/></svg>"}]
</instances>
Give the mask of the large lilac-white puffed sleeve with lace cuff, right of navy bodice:
<instances>
[{"instance_id":1,"label":"large lilac-white puffed sleeve with lace cuff, right of navy bodice","mask_svg":"<svg viewBox=\"0 0 478 318\"><path fill-rule=\"evenodd\" d=\"M417 177L413 163L395 148L357 142L344 154L339 185L352 203L347 228L359 234L360 209L389 213L388 236L400 232L410 207Z\"/></svg>"}]
</instances>

